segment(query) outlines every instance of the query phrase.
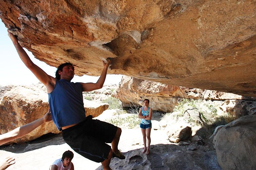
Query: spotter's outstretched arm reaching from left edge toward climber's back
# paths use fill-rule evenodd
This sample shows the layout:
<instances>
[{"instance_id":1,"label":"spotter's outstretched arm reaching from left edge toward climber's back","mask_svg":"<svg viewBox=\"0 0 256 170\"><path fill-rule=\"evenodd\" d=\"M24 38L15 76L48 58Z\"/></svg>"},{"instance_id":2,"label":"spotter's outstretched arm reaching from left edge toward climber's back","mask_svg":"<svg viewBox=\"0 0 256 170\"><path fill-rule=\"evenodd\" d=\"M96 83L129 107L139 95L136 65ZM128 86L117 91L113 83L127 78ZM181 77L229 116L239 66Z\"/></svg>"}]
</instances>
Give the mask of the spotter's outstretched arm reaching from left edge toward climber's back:
<instances>
[{"instance_id":1,"label":"spotter's outstretched arm reaching from left edge toward climber's back","mask_svg":"<svg viewBox=\"0 0 256 170\"><path fill-rule=\"evenodd\" d=\"M52 116L51 116L50 109L49 109L48 112L44 115L44 117L41 117L41 118L35 120L34 122L23 125L23 126L16 128L10 132L7 132L3 135L0 135L0 145L10 142L14 139L23 137L23 136L27 135L28 133L30 133L31 131L33 131L34 129L36 129L38 126L40 126L44 122L49 122L51 120L52 120Z\"/></svg>"}]
</instances>

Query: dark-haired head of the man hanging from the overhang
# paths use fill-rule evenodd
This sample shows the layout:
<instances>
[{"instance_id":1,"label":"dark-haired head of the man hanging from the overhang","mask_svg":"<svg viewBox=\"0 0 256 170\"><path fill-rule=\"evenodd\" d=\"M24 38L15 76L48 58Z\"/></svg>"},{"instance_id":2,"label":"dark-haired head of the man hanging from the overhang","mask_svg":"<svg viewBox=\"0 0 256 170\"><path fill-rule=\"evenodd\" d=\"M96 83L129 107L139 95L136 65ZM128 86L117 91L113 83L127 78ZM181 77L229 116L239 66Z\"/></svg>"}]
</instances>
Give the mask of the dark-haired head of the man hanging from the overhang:
<instances>
[{"instance_id":1,"label":"dark-haired head of the man hanging from the overhang","mask_svg":"<svg viewBox=\"0 0 256 170\"><path fill-rule=\"evenodd\" d=\"M71 80L74 77L74 71L75 69L73 64L71 63L60 64L58 69L56 70L55 78L57 78L58 80L60 80L61 78Z\"/></svg>"}]
</instances>

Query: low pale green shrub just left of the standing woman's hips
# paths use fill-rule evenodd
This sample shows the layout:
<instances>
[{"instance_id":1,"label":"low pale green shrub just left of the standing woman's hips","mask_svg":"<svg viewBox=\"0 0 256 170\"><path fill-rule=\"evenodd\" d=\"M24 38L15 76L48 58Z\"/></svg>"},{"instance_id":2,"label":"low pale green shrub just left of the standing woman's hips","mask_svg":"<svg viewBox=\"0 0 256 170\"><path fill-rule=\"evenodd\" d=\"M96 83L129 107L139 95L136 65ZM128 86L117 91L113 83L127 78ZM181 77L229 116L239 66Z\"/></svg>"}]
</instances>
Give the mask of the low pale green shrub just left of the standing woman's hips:
<instances>
[{"instance_id":1,"label":"low pale green shrub just left of the standing woman's hips","mask_svg":"<svg viewBox=\"0 0 256 170\"><path fill-rule=\"evenodd\" d=\"M129 123L129 127L130 128L134 128L137 125L140 124L140 119L138 118L138 115L135 114L129 114L127 117L115 117L115 118L111 118L106 120L106 122L109 122L111 124L114 124L115 126L122 126L124 123Z\"/></svg>"}]
</instances>

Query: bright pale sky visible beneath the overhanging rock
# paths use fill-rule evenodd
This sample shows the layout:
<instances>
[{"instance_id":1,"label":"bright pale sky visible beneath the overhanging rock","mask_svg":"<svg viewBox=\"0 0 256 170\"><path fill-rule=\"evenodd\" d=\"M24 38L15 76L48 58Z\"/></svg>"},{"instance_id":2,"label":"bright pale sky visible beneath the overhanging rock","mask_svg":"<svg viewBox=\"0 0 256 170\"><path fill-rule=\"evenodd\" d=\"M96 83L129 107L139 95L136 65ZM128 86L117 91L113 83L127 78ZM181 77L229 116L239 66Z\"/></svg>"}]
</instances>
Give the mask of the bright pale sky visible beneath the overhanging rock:
<instances>
[{"instance_id":1,"label":"bright pale sky visible beneath the overhanging rock","mask_svg":"<svg viewBox=\"0 0 256 170\"><path fill-rule=\"evenodd\" d=\"M0 19L1 20L1 19ZM30 59L48 75L55 77L55 67L51 67L44 62L37 60L34 55L26 48ZM0 21L0 85L32 85L39 82L34 74L22 63L20 57L8 36L7 28L2 20ZM103 69L103 66L102 66ZM76 73L76 70L75 70ZM121 81L122 75L107 75L104 85L118 84ZM96 83L99 77L93 76L74 76L72 82L92 82Z\"/></svg>"}]
</instances>

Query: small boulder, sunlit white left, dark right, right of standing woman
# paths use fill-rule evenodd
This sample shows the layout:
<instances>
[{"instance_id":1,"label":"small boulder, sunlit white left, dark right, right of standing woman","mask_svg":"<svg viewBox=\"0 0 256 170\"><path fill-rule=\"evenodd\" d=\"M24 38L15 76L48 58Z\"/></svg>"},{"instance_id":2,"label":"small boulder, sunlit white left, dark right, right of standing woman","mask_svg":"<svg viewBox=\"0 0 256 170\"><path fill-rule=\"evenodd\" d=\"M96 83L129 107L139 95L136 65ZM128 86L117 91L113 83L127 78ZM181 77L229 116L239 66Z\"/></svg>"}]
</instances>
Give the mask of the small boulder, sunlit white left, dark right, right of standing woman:
<instances>
[{"instance_id":1,"label":"small boulder, sunlit white left, dark right, right of standing woman","mask_svg":"<svg viewBox=\"0 0 256 170\"><path fill-rule=\"evenodd\" d=\"M175 123L166 130L170 142L184 141L192 135L191 125L188 123Z\"/></svg>"}]
</instances>

